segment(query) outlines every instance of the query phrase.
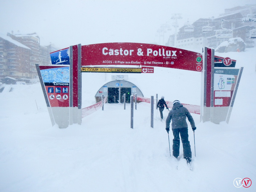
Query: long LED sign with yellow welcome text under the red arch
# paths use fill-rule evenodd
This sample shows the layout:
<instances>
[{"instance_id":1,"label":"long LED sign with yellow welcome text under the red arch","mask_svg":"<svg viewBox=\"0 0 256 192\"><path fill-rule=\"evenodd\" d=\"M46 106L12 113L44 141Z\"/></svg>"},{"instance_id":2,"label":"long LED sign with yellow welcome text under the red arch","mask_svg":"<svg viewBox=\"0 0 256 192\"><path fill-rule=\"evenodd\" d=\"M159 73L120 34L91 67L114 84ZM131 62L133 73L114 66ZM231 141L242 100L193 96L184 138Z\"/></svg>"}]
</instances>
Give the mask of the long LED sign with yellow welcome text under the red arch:
<instances>
[{"instance_id":1,"label":"long LED sign with yellow welcome text under the red arch","mask_svg":"<svg viewBox=\"0 0 256 192\"><path fill-rule=\"evenodd\" d=\"M96 73L141 73L141 68L81 67L81 72Z\"/></svg>"}]
</instances>

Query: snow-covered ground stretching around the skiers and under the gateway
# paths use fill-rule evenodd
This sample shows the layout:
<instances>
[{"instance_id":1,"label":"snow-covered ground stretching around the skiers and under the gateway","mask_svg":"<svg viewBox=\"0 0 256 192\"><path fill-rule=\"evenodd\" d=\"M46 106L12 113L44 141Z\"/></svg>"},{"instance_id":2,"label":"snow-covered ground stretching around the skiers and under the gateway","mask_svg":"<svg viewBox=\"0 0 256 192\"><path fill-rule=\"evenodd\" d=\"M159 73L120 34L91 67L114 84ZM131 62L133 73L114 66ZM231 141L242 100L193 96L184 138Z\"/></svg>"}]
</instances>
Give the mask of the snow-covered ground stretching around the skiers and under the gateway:
<instances>
[{"instance_id":1,"label":"snow-covered ground stretching around the skiers and under the gateway","mask_svg":"<svg viewBox=\"0 0 256 192\"><path fill-rule=\"evenodd\" d=\"M256 48L215 53L244 67L229 124L200 122L189 126L192 167L170 157L168 134L159 112L150 127L150 104L139 103L130 128L130 105L105 104L82 119L82 125L51 125L41 85L6 85L0 93L1 192L164 192L256 191ZM108 75L83 74L83 107L95 103ZM200 105L199 72L155 68L154 74L129 75L150 98ZM97 85L97 86L95 86ZM12 87L8 92L7 88ZM166 118L167 110L164 110ZM170 133L172 149L173 135ZM176 167L178 166L178 169ZM236 178L250 178L236 188Z\"/></svg>"}]
</instances>

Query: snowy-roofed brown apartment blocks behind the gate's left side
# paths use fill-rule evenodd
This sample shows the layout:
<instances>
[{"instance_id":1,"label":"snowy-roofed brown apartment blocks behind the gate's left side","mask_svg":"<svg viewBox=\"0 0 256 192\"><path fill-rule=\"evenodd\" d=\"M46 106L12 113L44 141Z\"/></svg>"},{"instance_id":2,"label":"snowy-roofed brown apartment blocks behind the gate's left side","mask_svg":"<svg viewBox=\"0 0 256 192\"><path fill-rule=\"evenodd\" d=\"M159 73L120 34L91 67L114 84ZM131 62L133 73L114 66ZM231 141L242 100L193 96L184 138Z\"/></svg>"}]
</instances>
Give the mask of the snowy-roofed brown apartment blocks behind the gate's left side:
<instances>
[{"instance_id":1,"label":"snowy-roofed brown apartment blocks behind the gate's left side","mask_svg":"<svg viewBox=\"0 0 256 192\"><path fill-rule=\"evenodd\" d=\"M50 65L52 46L41 46L36 33L0 34L0 79L38 78L35 64Z\"/></svg>"}]
</instances>

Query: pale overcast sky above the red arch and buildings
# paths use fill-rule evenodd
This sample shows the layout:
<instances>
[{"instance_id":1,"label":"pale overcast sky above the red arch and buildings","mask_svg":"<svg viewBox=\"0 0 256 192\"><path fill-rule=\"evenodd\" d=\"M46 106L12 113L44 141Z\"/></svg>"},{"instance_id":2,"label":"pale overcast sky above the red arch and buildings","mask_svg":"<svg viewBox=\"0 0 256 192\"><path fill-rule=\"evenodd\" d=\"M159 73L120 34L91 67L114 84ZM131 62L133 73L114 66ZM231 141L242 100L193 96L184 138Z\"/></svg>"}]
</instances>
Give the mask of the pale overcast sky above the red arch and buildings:
<instances>
[{"instance_id":1,"label":"pale overcast sky above the red arch and buildings","mask_svg":"<svg viewBox=\"0 0 256 192\"><path fill-rule=\"evenodd\" d=\"M59 48L106 42L158 43L157 30L182 14L189 19L218 17L224 9L255 0L1 0L0 33L36 32L41 45ZM173 34L174 28L167 31ZM161 41L162 41L161 37Z\"/></svg>"}]
</instances>

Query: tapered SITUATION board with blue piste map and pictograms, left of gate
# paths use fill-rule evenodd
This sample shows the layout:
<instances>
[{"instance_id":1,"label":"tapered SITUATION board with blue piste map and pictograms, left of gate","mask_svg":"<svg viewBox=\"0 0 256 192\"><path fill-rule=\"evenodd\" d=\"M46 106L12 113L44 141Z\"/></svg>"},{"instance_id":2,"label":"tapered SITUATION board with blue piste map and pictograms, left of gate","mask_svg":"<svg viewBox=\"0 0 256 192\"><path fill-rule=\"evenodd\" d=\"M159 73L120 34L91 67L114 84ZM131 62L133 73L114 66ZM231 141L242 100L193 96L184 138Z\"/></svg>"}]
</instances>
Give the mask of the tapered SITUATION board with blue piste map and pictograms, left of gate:
<instances>
[{"instance_id":1,"label":"tapered SITUATION board with blue piste map and pictograms, left of gate","mask_svg":"<svg viewBox=\"0 0 256 192\"><path fill-rule=\"evenodd\" d=\"M69 125L69 66L39 66L38 76L44 93L52 125Z\"/></svg>"}]
</instances>

